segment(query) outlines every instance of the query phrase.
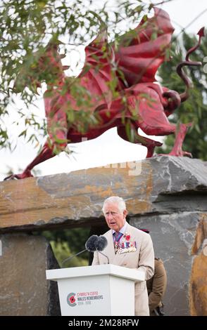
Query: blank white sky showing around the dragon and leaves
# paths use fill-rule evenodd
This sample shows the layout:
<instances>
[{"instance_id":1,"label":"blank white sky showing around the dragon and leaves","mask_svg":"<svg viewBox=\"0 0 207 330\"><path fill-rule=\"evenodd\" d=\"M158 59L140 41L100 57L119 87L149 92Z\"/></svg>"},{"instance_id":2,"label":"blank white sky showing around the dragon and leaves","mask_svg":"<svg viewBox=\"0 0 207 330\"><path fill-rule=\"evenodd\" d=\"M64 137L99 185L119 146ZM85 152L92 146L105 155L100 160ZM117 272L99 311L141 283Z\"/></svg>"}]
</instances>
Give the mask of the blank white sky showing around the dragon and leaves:
<instances>
[{"instance_id":1,"label":"blank white sky showing around the dragon and leaves","mask_svg":"<svg viewBox=\"0 0 207 330\"><path fill-rule=\"evenodd\" d=\"M153 1L153 3L156 2L161 1ZM175 27L175 33L178 33L181 27L187 27L197 15L207 9L207 1L174 0L164 4L162 8L170 15L172 25ZM206 25L206 22L207 11L189 26L187 32L196 34L202 26ZM20 106L20 104L21 101L19 100L18 105ZM42 98L38 101L35 112L40 118L44 118ZM10 118L7 120L8 133L11 136L11 140L14 141L17 139L18 134L23 131L23 121L20 121L19 128L12 125L16 118L15 109L11 109ZM153 137L153 139L161 140L162 138ZM44 140L42 139L42 144L44 144ZM125 142L118 137L116 128L103 133L99 138L69 145L69 147L75 151L74 157L68 157L65 152L62 152L60 155L35 166L35 170L40 171L41 175L44 176L124 161L136 161L146 157L145 147ZM19 173L19 169L24 169L35 158L37 150L38 148L35 149L34 146L25 143L21 138L18 138L18 146L12 153L8 150L0 150L0 180L4 179L8 167L12 168L14 173Z\"/></svg>"}]
</instances>

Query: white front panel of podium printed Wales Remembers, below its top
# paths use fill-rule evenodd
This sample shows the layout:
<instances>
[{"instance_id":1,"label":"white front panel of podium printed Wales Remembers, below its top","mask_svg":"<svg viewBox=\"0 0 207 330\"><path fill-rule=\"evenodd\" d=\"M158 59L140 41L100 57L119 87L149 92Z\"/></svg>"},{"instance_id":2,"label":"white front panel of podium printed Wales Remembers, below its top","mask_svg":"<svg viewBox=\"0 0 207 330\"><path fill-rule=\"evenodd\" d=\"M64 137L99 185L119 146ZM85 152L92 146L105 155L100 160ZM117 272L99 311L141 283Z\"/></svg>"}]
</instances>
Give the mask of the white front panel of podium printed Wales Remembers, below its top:
<instances>
[{"instance_id":1,"label":"white front panel of podium printed Wales Remembers, below its top","mask_svg":"<svg viewBox=\"0 0 207 330\"><path fill-rule=\"evenodd\" d=\"M134 282L111 275L59 279L63 316L134 315Z\"/></svg>"}]
</instances>

